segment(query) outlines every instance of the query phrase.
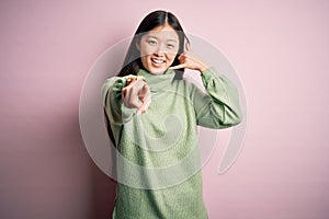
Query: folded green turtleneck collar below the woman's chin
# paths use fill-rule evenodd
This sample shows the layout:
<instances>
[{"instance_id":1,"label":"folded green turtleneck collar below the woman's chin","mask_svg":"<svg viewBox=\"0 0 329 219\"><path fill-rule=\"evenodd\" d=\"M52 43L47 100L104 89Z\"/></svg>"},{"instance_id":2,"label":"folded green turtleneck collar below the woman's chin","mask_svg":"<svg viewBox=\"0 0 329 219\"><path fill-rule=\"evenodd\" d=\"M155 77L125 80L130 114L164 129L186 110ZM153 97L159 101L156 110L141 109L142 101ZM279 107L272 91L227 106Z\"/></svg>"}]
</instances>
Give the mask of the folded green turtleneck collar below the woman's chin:
<instances>
[{"instance_id":1,"label":"folded green turtleneck collar below the woman's chin","mask_svg":"<svg viewBox=\"0 0 329 219\"><path fill-rule=\"evenodd\" d=\"M162 74L155 74L145 69L139 69L137 76L145 77L148 85L156 91L167 90L174 80L175 72L172 69L167 69Z\"/></svg>"}]
</instances>

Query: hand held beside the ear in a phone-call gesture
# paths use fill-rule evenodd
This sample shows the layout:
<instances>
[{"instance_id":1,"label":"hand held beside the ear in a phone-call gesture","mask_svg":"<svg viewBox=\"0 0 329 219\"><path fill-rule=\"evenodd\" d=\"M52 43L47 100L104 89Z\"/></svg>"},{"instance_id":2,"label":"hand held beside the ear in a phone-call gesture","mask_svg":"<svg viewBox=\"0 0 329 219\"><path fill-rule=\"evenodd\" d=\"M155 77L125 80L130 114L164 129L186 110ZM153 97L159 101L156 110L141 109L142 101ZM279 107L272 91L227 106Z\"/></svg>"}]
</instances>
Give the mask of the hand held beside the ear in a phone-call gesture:
<instances>
[{"instance_id":1,"label":"hand held beside the ear in a phone-call gesture","mask_svg":"<svg viewBox=\"0 0 329 219\"><path fill-rule=\"evenodd\" d=\"M202 60L201 57L198 57L190 49L190 44L186 44L185 51L181 54L178 59L181 64L170 67L170 69L188 68L192 70L198 70L202 73L209 67L208 64Z\"/></svg>"}]
</instances>

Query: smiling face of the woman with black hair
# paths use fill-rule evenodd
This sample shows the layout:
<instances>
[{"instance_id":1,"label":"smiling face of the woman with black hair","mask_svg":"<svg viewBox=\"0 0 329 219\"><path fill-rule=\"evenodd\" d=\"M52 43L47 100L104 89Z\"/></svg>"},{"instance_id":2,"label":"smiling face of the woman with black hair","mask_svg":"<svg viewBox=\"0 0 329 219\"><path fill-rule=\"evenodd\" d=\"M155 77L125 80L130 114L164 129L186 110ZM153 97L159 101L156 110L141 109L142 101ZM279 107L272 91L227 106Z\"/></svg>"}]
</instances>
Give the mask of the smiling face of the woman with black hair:
<instances>
[{"instance_id":1,"label":"smiling face of the woman with black hair","mask_svg":"<svg viewBox=\"0 0 329 219\"><path fill-rule=\"evenodd\" d=\"M144 68L150 73L163 73L173 62L179 43L177 32L168 24L147 32L137 44Z\"/></svg>"}]
</instances>

